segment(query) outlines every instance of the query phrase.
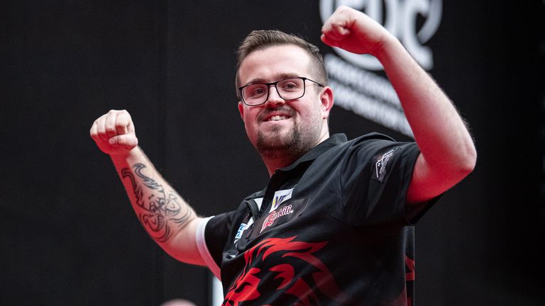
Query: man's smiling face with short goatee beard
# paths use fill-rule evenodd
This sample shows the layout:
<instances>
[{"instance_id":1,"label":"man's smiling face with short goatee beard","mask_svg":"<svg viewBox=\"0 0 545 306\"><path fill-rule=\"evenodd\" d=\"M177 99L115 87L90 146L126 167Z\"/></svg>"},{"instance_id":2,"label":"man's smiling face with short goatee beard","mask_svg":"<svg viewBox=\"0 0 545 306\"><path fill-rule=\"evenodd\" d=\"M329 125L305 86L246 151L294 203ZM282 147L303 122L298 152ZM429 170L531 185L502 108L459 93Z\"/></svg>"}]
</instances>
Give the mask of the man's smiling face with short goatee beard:
<instances>
[{"instance_id":1,"label":"man's smiling face with short goatee beard","mask_svg":"<svg viewBox=\"0 0 545 306\"><path fill-rule=\"evenodd\" d=\"M238 69L238 78L244 86L287 77L316 78L311 72L306 51L294 45L280 45L248 55ZM329 137L327 118L333 96L329 87L316 90L316 86L319 85L306 81L304 96L291 101L280 98L274 86L270 86L264 104L238 103L248 138L263 157L299 157Z\"/></svg>"}]
</instances>

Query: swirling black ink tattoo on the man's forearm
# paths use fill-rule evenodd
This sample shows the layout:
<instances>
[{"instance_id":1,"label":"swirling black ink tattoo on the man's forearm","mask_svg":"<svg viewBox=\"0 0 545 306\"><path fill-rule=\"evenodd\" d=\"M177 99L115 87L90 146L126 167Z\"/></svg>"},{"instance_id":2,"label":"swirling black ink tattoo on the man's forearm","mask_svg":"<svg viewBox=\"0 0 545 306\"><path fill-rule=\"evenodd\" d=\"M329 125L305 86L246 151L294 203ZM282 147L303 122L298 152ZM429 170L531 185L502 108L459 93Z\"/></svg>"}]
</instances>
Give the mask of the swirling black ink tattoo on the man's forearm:
<instances>
[{"instance_id":1,"label":"swirling black ink tattoo on the man's forearm","mask_svg":"<svg viewBox=\"0 0 545 306\"><path fill-rule=\"evenodd\" d=\"M145 167L144 164L135 164L133 171L123 168L121 176L131 180L138 220L153 239L166 242L177 229L187 225L193 212L187 205L180 203L182 200L174 191L165 192L163 185L142 174Z\"/></svg>"}]
</instances>

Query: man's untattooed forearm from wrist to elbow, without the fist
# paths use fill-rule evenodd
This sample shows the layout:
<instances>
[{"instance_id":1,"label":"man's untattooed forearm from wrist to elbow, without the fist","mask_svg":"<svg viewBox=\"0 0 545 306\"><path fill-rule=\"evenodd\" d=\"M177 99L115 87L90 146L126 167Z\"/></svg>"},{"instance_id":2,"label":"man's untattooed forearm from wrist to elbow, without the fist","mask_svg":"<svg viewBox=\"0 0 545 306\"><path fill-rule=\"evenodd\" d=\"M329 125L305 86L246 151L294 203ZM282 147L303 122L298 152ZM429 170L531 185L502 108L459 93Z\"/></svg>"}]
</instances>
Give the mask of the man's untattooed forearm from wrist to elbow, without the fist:
<instances>
[{"instance_id":1,"label":"man's untattooed forearm from wrist to elbow, without the fist","mask_svg":"<svg viewBox=\"0 0 545 306\"><path fill-rule=\"evenodd\" d=\"M473 169L475 147L456 108L435 81L392 38L377 54L400 97L414 138L430 166Z\"/></svg>"}]
</instances>

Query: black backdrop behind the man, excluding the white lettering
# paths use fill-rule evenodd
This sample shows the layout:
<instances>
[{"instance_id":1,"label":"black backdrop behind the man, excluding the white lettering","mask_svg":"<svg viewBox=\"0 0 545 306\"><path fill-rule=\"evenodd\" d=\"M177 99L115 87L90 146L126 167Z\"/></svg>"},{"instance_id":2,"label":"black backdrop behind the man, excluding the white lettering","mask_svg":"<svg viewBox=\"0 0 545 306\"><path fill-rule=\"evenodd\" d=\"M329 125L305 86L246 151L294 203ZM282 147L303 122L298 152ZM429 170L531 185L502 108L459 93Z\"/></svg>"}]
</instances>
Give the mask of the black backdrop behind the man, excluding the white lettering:
<instances>
[{"instance_id":1,"label":"black backdrop behind the man, excluding the white lettering","mask_svg":"<svg viewBox=\"0 0 545 306\"><path fill-rule=\"evenodd\" d=\"M543 4L444 2L430 72L470 123L479 160L417 226L417 302L543 305ZM148 238L90 125L127 109L199 214L229 210L267 181L236 108L236 45L279 28L331 50L318 1L198 3L1 8L0 305L209 305L209 273ZM406 139L338 107L330 125Z\"/></svg>"}]
</instances>

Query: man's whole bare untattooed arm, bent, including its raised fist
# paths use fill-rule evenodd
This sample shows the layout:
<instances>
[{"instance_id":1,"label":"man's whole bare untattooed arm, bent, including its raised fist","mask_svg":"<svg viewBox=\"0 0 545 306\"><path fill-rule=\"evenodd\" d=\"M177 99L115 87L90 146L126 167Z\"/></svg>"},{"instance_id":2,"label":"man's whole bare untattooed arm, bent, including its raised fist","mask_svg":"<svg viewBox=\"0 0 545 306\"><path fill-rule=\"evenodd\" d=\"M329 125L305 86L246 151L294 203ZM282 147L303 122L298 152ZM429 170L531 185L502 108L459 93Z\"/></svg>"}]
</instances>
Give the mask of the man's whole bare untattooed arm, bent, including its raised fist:
<instances>
[{"instance_id":1,"label":"man's whole bare untattooed arm, bent, including its raised fist","mask_svg":"<svg viewBox=\"0 0 545 306\"><path fill-rule=\"evenodd\" d=\"M384 67L421 151L408 203L434 198L473 171L477 153L461 116L395 36L364 13L341 6L324 24L321 39L349 52L373 55Z\"/></svg>"}]
</instances>

